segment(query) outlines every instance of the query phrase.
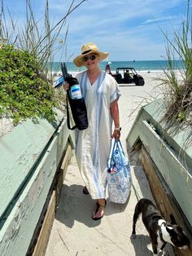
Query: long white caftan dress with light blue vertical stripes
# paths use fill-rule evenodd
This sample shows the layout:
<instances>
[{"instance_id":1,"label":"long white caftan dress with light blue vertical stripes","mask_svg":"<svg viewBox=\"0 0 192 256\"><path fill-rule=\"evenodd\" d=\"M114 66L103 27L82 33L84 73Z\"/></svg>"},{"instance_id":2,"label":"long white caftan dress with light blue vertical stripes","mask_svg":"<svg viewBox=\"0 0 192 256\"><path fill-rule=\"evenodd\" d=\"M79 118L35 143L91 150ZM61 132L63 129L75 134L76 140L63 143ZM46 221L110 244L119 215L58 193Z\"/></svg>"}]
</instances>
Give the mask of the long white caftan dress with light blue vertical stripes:
<instances>
[{"instance_id":1,"label":"long white caftan dress with light blue vertical stripes","mask_svg":"<svg viewBox=\"0 0 192 256\"><path fill-rule=\"evenodd\" d=\"M102 72L93 85L87 72L78 73L85 99L89 126L76 129L76 162L93 199L104 198L107 186L107 161L111 147L110 104L119 99L120 90L111 75Z\"/></svg>"}]
</instances>

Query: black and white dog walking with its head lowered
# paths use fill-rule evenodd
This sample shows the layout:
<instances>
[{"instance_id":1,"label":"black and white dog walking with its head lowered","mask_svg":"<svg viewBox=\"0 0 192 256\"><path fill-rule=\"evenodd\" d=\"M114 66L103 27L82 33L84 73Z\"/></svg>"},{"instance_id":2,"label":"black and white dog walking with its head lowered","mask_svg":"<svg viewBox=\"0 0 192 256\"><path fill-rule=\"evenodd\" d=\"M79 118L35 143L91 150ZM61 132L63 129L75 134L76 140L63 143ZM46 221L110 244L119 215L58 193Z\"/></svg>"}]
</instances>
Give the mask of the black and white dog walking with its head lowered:
<instances>
[{"instance_id":1,"label":"black and white dog walking with its head lowered","mask_svg":"<svg viewBox=\"0 0 192 256\"><path fill-rule=\"evenodd\" d=\"M136 237L135 226L140 214L142 214L142 222L151 237L154 255L157 255L160 251L166 254L164 252L164 245L166 243L170 243L179 249L188 249L190 247L189 238L182 227L177 225L172 214L170 215L171 223L167 223L153 202L146 198L142 198L135 206L132 238Z\"/></svg>"}]
</instances>

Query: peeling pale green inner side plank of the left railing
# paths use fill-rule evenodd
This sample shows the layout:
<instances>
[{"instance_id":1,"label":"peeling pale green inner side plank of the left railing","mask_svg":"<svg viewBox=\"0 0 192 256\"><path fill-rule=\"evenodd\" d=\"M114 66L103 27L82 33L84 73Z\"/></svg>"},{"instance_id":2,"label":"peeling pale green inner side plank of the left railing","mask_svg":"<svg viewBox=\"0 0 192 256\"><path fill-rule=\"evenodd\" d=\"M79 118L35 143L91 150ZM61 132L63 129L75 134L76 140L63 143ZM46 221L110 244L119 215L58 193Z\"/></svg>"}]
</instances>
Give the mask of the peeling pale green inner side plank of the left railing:
<instances>
[{"instance_id":1,"label":"peeling pale green inner side plank of the left railing","mask_svg":"<svg viewBox=\"0 0 192 256\"><path fill-rule=\"evenodd\" d=\"M34 231L59 168L58 163L61 162L66 148L63 140L68 143L69 133L64 132L64 126L66 122L63 121L62 128L52 137L49 148L42 152L41 161L34 166L33 175L28 179L28 183L24 184L24 188L12 202L11 210L2 220L0 255L24 256L28 253L28 247L33 240Z\"/></svg>"}]
</instances>

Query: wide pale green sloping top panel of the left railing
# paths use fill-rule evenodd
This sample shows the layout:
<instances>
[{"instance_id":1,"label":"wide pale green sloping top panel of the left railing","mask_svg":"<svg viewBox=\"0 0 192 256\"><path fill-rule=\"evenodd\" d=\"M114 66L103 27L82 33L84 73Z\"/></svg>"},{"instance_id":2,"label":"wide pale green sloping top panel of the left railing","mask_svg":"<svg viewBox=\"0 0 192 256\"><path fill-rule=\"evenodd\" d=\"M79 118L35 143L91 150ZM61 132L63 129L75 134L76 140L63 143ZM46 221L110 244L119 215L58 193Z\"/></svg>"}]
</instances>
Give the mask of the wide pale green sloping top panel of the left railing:
<instances>
[{"instance_id":1,"label":"wide pale green sloping top panel of the left railing","mask_svg":"<svg viewBox=\"0 0 192 256\"><path fill-rule=\"evenodd\" d=\"M59 126L63 113L58 112ZM67 128L66 128L67 129ZM37 123L23 121L7 135L0 138L0 217L4 218L7 207L33 171L41 152L55 134L55 127L46 119Z\"/></svg>"}]
</instances>

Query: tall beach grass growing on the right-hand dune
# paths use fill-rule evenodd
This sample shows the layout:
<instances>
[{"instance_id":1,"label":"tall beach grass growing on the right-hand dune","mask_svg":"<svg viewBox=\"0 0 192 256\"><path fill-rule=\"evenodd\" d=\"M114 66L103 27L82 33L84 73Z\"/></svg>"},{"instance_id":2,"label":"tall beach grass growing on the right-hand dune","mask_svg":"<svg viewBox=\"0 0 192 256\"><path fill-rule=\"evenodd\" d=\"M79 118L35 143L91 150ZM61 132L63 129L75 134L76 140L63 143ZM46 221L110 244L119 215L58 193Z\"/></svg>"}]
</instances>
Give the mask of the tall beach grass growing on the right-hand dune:
<instances>
[{"instance_id":1,"label":"tall beach grass growing on the right-hand dune","mask_svg":"<svg viewBox=\"0 0 192 256\"><path fill-rule=\"evenodd\" d=\"M185 19L181 29L173 29L173 39L166 38L166 57L168 67L164 68L164 77L158 78L164 85L166 113L164 121L167 129L192 125L192 15L190 0L187 2ZM175 60L181 61L181 67Z\"/></svg>"}]
</instances>

